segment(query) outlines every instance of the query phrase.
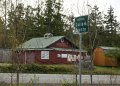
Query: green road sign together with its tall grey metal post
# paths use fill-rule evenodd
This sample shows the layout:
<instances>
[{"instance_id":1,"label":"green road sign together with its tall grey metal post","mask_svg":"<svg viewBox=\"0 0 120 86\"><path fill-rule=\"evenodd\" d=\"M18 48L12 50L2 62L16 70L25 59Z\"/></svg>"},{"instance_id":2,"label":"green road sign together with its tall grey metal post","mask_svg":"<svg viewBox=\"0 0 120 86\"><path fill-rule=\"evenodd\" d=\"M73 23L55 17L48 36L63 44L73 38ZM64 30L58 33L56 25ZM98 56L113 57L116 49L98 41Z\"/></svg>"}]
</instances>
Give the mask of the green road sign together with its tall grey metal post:
<instances>
[{"instance_id":1,"label":"green road sign together with its tall grey metal post","mask_svg":"<svg viewBox=\"0 0 120 86\"><path fill-rule=\"evenodd\" d=\"M79 86L81 86L82 33L88 32L88 15L75 18L74 34L80 35Z\"/></svg>"}]
</instances>

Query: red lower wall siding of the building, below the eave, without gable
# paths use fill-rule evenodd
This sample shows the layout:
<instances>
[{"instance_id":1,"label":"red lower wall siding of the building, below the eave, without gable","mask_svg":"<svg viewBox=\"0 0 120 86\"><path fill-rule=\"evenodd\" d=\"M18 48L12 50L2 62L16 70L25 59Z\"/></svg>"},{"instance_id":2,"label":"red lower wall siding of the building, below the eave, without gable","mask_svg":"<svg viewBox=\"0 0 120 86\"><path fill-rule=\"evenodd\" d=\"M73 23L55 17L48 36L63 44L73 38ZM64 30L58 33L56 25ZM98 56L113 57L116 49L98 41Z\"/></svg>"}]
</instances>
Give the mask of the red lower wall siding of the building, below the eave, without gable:
<instances>
[{"instance_id":1,"label":"red lower wall siding of the building, below the eave, without gable","mask_svg":"<svg viewBox=\"0 0 120 86\"><path fill-rule=\"evenodd\" d=\"M41 59L41 51L26 51L26 63L36 63L36 64L70 64L67 58L57 58L57 54L72 54L77 55L79 52L66 52L66 51L49 51L49 59ZM82 52L83 59L86 54ZM20 63L25 64L25 52L21 53ZM73 62L74 63L74 62Z\"/></svg>"}]
</instances>

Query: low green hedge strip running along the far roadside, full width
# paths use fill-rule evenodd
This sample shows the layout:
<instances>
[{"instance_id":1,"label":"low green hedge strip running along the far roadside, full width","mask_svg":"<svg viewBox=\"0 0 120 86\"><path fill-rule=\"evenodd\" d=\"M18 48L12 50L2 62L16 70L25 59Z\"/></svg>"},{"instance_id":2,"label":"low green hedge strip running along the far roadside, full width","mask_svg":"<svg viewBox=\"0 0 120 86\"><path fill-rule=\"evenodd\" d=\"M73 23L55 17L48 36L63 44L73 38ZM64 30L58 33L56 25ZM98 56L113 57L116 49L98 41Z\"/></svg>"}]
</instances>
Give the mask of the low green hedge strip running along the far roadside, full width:
<instances>
[{"instance_id":1,"label":"low green hedge strip running along the far roadside, full width","mask_svg":"<svg viewBox=\"0 0 120 86\"><path fill-rule=\"evenodd\" d=\"M9 66L0 66L1 73L16 73L17 71L16 65L9 65ZM37 65L34 63L31 64L20 64L19 65L20 73L40 73L40 74L74 74L74 68L65 67L65 66L54 66L54 65ZM79 69L77 70L77 72ZM89 75L91 72L90 70L82 70L82 74ZM92 72L94 75L111 75L111 74L120 74L118 72L111 72L111 71L103 71L103 70L94 70Z\"/></svg>"}]
</instances>

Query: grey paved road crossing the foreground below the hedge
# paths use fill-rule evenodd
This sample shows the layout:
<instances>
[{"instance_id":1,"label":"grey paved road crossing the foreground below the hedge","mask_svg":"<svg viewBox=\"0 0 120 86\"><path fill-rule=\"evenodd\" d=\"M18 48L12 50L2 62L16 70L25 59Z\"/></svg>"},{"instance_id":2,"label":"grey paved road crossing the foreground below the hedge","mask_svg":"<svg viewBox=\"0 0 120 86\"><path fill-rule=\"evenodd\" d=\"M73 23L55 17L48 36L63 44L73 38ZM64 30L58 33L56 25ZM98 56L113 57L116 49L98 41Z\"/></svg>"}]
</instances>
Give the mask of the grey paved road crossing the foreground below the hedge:
<instances>
[{"instance_id":1,"label":"grey paved road crossing the foreground below the hedge","mask_svg":"<svg viewBox=\"0 0 120 86\"><path fill-rule=\"evenodd\" d=\"M0 82L11 83L16 82L16 73L0 73ZM82 75L82 83L90 84L90 75ZM77 76L79 80L79 75ZM20 83L28 83L34 80L34 83L72 83L75 81L75 75L69 74L20 74ZM120 84L120 75L93 75L94 84Z\"/></svg>"}]
</instances>

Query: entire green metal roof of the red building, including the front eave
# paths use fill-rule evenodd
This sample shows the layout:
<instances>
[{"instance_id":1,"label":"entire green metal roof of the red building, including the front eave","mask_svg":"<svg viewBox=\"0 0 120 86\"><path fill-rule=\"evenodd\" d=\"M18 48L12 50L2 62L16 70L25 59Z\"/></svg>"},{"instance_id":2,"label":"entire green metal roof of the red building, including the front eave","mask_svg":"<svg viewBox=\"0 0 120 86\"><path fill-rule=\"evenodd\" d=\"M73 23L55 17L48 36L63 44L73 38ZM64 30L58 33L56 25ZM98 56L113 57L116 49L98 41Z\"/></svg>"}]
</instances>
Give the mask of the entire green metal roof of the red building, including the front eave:
<instances>
[{"instance_id":1,"label":"entire green metal roof of the red building, including the front eave","mask_svg":"<svg viewBox=\"0 0 120 86\"><path fill-rule=\"evenodd\" d=\"M51 44L57 42L58 40L62 38L65 38L66 40L68 40L77 49L49 47ZM58 51L73 51L73 52L80 51L79 47L65 36L53 36L49 38L44 38L44 37L32 38L28 40L27 42L21 44L19 46L19 50L58 50ZM87 52L87 51L82 50L82 52Z\"/></svg>"}]
</instances>

